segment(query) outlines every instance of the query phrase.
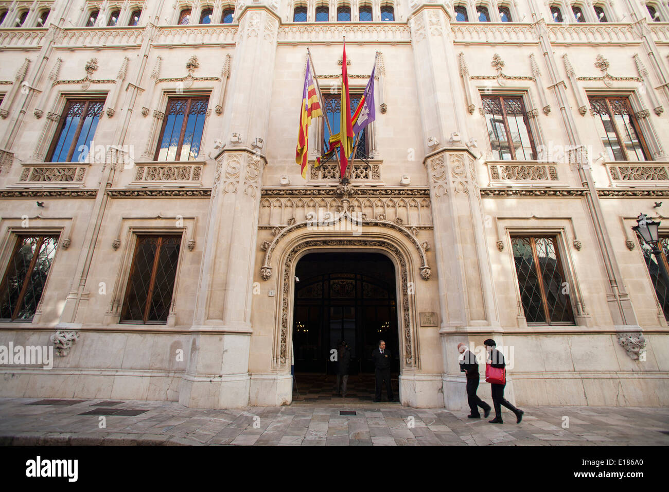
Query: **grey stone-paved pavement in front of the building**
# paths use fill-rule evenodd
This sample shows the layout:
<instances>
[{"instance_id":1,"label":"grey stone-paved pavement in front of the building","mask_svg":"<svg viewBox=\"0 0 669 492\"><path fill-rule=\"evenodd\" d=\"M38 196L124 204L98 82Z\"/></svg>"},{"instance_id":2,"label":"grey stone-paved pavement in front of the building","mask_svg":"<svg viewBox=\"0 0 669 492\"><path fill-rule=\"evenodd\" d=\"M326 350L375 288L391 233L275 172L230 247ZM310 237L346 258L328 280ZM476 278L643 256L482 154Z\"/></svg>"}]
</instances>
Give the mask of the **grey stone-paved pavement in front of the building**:
<instances>
[{"instance_id":1,"label":"grey stone-paved pavement in front of the building","mask_svg":"<svg viewBox=\"0 0 669 492\"><path fill-rule=\"evenodd\" d=\"M207 410L177 402L0 398L0 445L669 445L669 408L522 408L520 424L505 413L499 425L396 403ZM106 428L99 428L102 420Z\"/></svg>"}]
</instances>

